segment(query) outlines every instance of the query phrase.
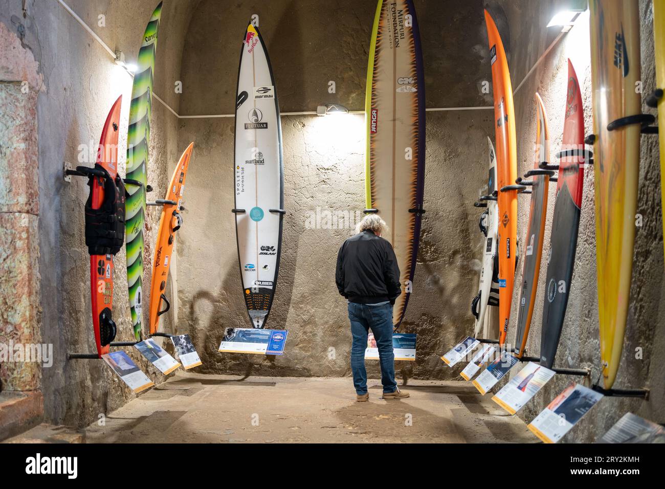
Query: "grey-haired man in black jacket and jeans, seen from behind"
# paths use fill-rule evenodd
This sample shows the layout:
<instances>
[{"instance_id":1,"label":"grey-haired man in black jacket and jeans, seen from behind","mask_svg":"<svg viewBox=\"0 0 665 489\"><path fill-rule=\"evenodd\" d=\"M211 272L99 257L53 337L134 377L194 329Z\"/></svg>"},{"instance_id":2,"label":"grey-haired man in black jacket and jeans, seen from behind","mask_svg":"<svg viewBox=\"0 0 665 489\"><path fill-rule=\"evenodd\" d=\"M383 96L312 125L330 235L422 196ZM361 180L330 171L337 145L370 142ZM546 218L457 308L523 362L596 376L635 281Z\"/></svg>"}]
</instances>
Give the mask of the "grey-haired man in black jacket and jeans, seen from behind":
<instances>
[{"instance_id":1,"label":"grey-haired man in black jacket and jeans, seen from behind","mask_svg":"<svg viewBox=\"0 0 665 489\"><path fill-rule=\"evenodd\" d=\"M392 351L392 306L402 293L400 269L392 245L381 235L386 222L377 214L365 216L337 253L335 281L348 301L351 323L351 372L356 400L367 401L365 349L371 329L376 339L381 365L382 399L404 399L395 382L395 355Z\"/></svg>"}]
</instances>

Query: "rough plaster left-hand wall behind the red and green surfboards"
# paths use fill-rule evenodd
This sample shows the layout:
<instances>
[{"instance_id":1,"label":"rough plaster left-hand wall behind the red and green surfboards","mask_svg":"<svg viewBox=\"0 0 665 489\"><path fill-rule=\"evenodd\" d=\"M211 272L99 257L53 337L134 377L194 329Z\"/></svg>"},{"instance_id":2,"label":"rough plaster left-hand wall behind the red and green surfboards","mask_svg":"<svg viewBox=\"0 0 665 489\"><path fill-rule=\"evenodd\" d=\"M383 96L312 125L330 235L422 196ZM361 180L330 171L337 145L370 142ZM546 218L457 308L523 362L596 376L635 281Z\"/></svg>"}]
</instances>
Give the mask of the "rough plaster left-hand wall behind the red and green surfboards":
<instances>
[{"instance_id":1,"label":"rough plaster left-hand wall behind the red and green surfboards","mask_svg":"<svg viewBox=\"0 0 665 489\"><path fill-rule=\"evenodd\" d=\"M108 44L120 49L127 61L136 59L141 35L158 2L82 1L68 5ZM155 92L178 109L174 82L180 78L180 59L188 7L192 1L165 2L155 73ZM44 343L53 344L53 367L43 369L42 389L45 417L52 422L87 424L98 414L119 407L132 393L102 365L102 361L67 361L68 351L93 352L90 317L88 253L84 246L83 206L88 195L86 181L63 181L63 162L90 166L90 158L79 158L80 145L96 148L102 124L112 102L122 94L120 174L124 175L126 133L132 79L114 65L110 55L56 1L0 1L0 22L19 37L38 66L43 83L31 92L37 96L39 134L39 269ZM100 25L100 15L105 25ZM161 197L168 183L166 169L177 160L176 118L154 100L150 139L148 182L156 189L149 200ZM31 144L29 141L26 144ZM37 198L35 186L35 198ZM144 284L150 283L152 243L158 210L148 211ZM37 225L35 224L35 227ZM4 249L4 247L3 247ZM124 249L115 259L114 320L116 340L132 337L126 291ZM147 310L147 307L144 308ZM162 379L134 349L128 353L155 381Z\"/></svg>"}]
</instances>

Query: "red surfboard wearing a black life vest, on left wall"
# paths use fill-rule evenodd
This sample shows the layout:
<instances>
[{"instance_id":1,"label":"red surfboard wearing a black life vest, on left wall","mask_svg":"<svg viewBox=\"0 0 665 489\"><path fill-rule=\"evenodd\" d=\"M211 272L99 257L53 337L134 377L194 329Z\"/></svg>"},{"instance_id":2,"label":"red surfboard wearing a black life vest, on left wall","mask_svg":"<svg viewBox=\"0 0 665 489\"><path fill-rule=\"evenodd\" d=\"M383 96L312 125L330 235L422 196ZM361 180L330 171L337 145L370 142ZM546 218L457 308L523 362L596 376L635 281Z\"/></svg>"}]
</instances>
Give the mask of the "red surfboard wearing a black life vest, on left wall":
<instances>
[{"instance_id":1,"label":"red surfboard wearing a black life vest, on left wall","mask_svg":"<svg viewBox=\"0 0 665 489\"><path fill-rule=\"evenodd\" d=\"M96 163L108 172L111 178L118 174L118 132L120 129L120 104L122 95L111 107L102 137L97 148ZM99 209L104 202L104 178L95 176L92 180L92 208ZM124 196L122 196L124 199ZM124 204L123 204L124 205ZM102 345L100 327L110 327L113 311L113 255L90 255L90 295L92 297L92 325L97 354L108 353L108 343Z\"/></svg>"}]
</instances>

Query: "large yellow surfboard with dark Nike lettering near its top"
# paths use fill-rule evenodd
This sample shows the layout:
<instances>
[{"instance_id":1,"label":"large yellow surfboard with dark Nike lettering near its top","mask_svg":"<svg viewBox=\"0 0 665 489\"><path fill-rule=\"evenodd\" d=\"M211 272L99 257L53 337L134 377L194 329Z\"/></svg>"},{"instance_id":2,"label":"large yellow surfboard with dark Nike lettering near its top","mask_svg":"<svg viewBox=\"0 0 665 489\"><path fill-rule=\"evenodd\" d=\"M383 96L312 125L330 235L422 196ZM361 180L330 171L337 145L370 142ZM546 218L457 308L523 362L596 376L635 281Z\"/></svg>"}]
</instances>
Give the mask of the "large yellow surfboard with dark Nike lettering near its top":
<instances>
[{"instance_id":1,"label":"large yellow surfboard with dark Nike lettering near its top","mask_svg":"<svg viewBox=\"0 0 665 489\"><path fill-rule=\"evenodd\" d=\"M640 17L634 0L591 0L596 260L604 388L616 378L630 299L641 112Z\"/></svg>"}]
</instances>

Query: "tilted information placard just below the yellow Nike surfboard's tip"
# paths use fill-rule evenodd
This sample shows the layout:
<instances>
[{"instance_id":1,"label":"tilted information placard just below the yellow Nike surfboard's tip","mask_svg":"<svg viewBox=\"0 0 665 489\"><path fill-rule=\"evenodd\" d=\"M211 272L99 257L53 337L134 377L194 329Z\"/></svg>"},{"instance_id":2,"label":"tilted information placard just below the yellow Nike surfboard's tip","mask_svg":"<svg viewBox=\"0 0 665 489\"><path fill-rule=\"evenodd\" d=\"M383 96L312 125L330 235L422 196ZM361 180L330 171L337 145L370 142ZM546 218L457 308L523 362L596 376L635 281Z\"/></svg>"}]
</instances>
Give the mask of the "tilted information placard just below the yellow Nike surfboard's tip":
<instances>
[{"instance_id":1,"label":"tilted information placard just below the yellow Nike surfboard's tip","mask_svg":"<svg viewBox=\"0 0 665 489\"><path fill-rule=\"evenodd\" d=\"M602 394L571 383L531 421L527 428L545 443L556 443L589 412Z\"/></svg>"}]
</instances>

